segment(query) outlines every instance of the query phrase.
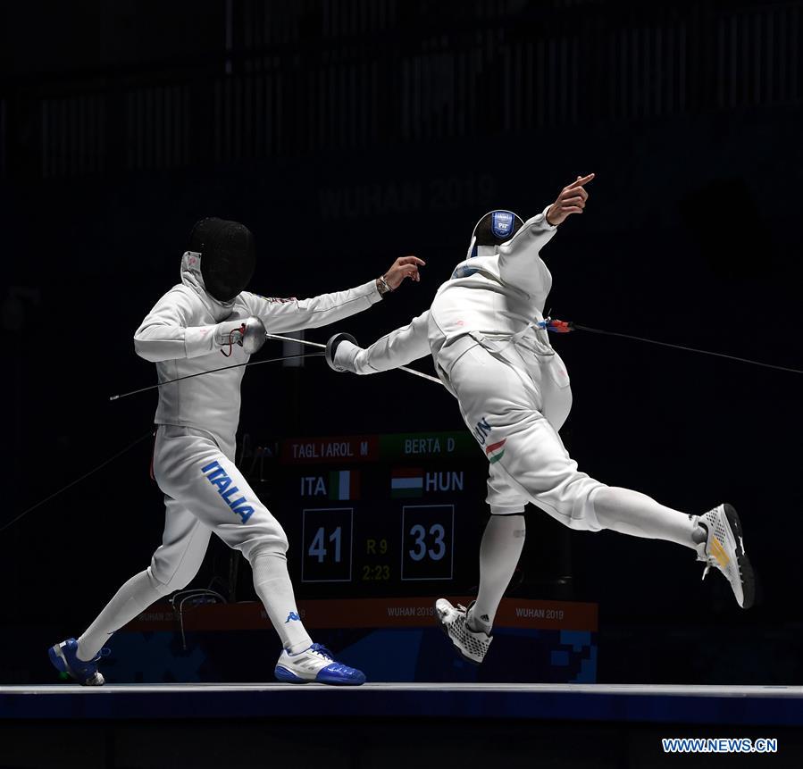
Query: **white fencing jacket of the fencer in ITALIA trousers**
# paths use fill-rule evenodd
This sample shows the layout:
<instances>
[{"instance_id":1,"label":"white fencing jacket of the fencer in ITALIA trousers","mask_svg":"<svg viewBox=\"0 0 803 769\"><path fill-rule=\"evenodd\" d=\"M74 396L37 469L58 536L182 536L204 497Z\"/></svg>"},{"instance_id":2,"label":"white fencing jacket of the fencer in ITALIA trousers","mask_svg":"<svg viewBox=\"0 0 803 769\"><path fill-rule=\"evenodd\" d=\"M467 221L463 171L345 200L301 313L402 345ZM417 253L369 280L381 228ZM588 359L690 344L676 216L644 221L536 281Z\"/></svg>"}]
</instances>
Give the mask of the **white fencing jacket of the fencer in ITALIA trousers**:
<instances>
[{"instance_id":1,"label":"white fencing jacket of the fencer in ITALIA trousers","mask_svg":"<svg viewBox=\"0 0 803 769\"><path fill-rule=\"evenodd\" d=\"M255 315L270 333L325 326L361 313L380 301L376 281L311 299L260 297L248 291L219 302L204 288L197 259L181 260L181 284L171 288L147 314L134 335L137 354L156 364L159 381L173 380L232 364L250 355L235 345L230 357L214 344L214 326ZM156 424L193 427L210 433L233 458L239 422L240 381L246 367L214 372L159 388Z\"/></svg>"}]
</instances>

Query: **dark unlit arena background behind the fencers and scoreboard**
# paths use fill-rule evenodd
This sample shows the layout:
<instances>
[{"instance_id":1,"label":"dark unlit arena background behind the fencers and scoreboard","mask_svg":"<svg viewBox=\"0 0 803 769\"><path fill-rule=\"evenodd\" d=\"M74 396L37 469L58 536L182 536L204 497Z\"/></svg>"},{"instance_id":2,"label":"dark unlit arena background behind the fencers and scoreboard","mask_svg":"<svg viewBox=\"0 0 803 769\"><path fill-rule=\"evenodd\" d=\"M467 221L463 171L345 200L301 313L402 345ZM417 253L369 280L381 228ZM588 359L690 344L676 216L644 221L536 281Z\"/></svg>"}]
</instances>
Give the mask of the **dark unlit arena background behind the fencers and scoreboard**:
<instances>
[{"instance_id":1,"label":"dark unlit arena background behind the fencers and scoreboard","mask_svg":"<svg viewBox=\"0 0 803 769\"><path fill-rule=\"evenodd\" d=\"M131 337L208 215L255 232L268 296L425 259L419 285L339 324L369 341L430 304L482 213L526 218L594 171L586 213L543 253L555 316L803 367L801 2L2 13L0 524L146 433L153 393L107 397L154 380ZM732 502L760 580L742 612L720 575L699 584L688 550L570 534L532 509L527 557L568 541L571 596L600 603L599 679L803 682L799 375L582 333L555 344L581 469L689 512ZM463 428L451 397L401 373L313 360L243 386L257 442ZM40 680L44 649L146 565L162 527L148 458L144 441L0 533L0 681Z\"/></svg>"}]
</instances>

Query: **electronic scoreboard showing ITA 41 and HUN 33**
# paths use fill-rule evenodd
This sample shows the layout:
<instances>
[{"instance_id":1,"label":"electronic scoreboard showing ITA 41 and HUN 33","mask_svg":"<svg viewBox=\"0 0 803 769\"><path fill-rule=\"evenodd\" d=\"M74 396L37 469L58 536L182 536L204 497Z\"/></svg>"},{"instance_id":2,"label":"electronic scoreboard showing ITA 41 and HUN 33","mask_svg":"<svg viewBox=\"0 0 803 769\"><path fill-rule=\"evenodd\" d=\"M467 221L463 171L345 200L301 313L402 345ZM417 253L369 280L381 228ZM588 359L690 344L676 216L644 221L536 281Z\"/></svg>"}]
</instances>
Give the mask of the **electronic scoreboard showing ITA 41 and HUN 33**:
<instances>
[{"instance_id":1,"label":"electronic scoreboard showing ITA 41 and HUN 33","mask_svg":"<svg viewBox=\"0 0 803 769\"><path fill-rule=\"evenodd\" d=\"M288 533L299 598L475 586L487 472L467 432L282 441L266 501Z\"/></svg>"}]
</instances>

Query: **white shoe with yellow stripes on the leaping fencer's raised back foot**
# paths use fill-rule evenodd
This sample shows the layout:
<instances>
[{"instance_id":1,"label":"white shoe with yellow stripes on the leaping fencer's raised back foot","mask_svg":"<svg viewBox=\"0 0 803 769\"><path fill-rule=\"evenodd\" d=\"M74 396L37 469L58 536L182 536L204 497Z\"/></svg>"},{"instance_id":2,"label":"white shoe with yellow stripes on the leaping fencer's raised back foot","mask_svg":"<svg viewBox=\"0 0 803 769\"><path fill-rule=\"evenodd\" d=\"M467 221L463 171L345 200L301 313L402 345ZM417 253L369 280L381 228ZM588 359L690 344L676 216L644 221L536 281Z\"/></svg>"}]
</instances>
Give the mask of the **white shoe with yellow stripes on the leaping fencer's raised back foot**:
<instances>
[{"instance_id":1,"label":"white shoe with yellow stripes on the leaping fencer's raised back foot","mask_svg":"<svg viewBox=\"0 0 803 769\"><path fill-rule=\"evenodd\" d=\"M707 539L698 545L698 561L703 561L708 570L714 566L731 583L733 595L743 609L753 606L756 599L756 578L744 551L739 515L731 505L723 505L699 515L698 523L707 531Z\"/></svg>"}]
</instances>

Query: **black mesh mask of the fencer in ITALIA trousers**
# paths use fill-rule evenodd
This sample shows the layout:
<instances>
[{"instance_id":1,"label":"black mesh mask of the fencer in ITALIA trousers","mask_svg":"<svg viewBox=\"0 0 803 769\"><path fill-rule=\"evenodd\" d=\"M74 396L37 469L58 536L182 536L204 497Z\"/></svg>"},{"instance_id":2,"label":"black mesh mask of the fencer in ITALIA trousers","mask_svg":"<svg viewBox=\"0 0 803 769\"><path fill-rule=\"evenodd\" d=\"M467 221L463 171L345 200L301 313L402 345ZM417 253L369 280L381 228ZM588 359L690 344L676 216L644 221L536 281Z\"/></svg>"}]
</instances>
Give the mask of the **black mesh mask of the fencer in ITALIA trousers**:
<instances>
[{"instance_id":1,"label":"black mesh mask of the fencer in ITALIA trousers","mask_svg":"<svg viewBox=\"0 0 803 769\"><path fill-rule=\"evenodd\" d=\"M219 302L230 302L254 275L254 236L239 222L202 219L189 235L188 250L201 255L204 288Z\"/></svg>"}]
</instances>

